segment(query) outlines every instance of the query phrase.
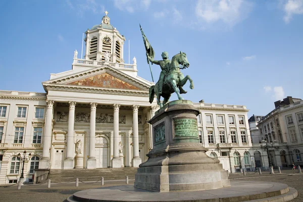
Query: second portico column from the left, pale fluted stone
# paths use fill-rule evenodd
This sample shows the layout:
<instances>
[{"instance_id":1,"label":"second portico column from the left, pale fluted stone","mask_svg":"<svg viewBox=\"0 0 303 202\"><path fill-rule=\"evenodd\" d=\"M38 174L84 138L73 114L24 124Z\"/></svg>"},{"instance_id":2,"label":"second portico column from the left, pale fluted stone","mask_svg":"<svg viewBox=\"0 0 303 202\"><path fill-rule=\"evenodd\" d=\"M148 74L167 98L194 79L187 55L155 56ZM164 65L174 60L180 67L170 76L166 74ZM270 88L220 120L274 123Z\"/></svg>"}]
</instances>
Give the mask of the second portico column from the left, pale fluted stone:
<instances>
[{"instance_id":1,"label":"second portico column from the left, pale fluted stone","mask_svg":"<svg viewBox=\"0 0 303 202\"><path fill-rule=\"evenodd\" d=\"M67 131L67 146L66 158L64 160L64 169L74 168L74 122L75 122L75 107L76 102L69 102L69 115L68 115L68 131Z\"/></svg>"}]
</instances>

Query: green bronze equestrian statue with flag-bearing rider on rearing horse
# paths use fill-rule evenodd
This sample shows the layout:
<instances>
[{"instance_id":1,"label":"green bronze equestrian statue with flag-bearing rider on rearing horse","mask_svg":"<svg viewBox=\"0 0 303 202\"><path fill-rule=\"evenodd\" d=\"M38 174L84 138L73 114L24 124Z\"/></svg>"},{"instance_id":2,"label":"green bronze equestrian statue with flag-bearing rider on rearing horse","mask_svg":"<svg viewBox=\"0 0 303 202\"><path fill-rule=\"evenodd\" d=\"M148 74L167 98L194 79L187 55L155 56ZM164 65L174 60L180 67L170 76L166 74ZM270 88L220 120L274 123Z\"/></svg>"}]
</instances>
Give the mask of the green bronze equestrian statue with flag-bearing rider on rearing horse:
<instances>
[{"instance_id":1,"label":"green bronze equestrian statue with flag-bearing rider on rearing horse","mask_svg":"<svg viewBox=\"0 0 303 202\"><path fill-rule=\"evenodd\" d=\"M184 76L180 69L185 69L189 67L189 62L187 60L186 54L180 52L176 54L172 60L168 59L168 53L162 53L162 59L160 61L154 60L155 52L153 47L149 44L143 30L141 28L141 33L143 37L143 42L146 51L147 63L160 65L161 73L158 82L149 88L149 103L153 103L155 94L157 95L157 104L160 107L163 107L169 100L171 94L175 92L178 96L178 99L184 99L181 94L187 93L187 91L183 90L183 86L189 80L190 82L190 89L193 89L193 82L190 76ZM181 65L181 67L180 67ZM150 64L149 64L150 68ZM151 73L151 68L150 68ZM151 73L151 78L153 79L153 73ZM180 91L179 91L180 90ZM164 98L163 103L161 103L161 96Z\"/></svg>"}]
</instances>

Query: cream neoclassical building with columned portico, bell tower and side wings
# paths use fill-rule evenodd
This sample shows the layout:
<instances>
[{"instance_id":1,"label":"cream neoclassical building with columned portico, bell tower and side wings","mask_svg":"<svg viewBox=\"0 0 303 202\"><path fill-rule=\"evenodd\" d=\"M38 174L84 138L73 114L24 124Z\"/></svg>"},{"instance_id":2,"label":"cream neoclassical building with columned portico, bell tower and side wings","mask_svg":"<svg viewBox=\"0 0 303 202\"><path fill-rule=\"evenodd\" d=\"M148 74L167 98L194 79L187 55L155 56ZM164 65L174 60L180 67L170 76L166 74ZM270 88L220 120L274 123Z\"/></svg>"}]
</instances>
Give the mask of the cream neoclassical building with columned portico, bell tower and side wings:
<instances>
[{"instance_id":1,"label":"cream neoclassical building with columned portico, bell tower and side wings","mask_svg":"<svg viewBox=\"0 0 303 202\"><path fill-rule=\"evenodd\" d=\"M85 59L74 53L72 69L51 74L45 92L0 90L0 184L31 182L36 169L138 167L153 147L147 121L158 110L149 104L153 82L137 76L136 60L124 64L125 37L106 15L86 32ZM224 169L255 167L245 106L194 106L200 143Z\"/></svg>"}]
</instances>

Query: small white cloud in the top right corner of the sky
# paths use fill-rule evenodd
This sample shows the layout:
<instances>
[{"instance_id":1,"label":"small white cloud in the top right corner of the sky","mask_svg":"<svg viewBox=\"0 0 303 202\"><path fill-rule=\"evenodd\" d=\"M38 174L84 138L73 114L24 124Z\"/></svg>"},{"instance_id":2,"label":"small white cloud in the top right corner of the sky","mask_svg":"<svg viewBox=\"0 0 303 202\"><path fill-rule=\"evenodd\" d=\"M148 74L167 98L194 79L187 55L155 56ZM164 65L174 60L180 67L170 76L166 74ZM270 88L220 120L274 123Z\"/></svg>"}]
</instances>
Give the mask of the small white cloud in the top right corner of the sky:
<instances>
[{"instance_id":1,"label":"small white cloud in the top right corner of the sky","mask_svg":"<svg viewBox=\"0 0 303 202\"><path fill-rule=\"evenodd\" d=\"M287 0L284 5L285 16L283 20L289 23L293 15L303 14L303 0Z\"/></svg>"}]
</instances>

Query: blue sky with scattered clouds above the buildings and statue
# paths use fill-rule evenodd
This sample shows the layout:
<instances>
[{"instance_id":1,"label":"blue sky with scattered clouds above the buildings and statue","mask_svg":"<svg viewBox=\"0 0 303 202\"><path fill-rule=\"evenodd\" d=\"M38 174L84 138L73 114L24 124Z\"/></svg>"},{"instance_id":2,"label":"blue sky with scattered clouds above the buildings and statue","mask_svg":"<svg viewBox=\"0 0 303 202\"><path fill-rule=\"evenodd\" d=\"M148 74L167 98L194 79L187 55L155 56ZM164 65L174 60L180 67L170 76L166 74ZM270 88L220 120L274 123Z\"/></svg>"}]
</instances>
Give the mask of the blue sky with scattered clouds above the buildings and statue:
<instances>
[{"instance_id":1,"label":"blue sky with scattered clouds above the buildings and statue","mask_svg":"<svg viewBox=\"0 0 303 202\"><path fill-rule=\"evenodd\" d=\"M303 98L303 0L2 0L0 89L44 92L41 82L71 69L82 32L106 10L126 37L126 63L130 39L140 77L151 80L139 23L156 59L186 53L183 73L195 88L186 84L185 99L245 105L251 116L286 96ZM152 69L158 80L160 67Z\"/></svg>"}]
</instances>

